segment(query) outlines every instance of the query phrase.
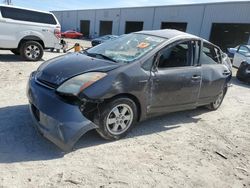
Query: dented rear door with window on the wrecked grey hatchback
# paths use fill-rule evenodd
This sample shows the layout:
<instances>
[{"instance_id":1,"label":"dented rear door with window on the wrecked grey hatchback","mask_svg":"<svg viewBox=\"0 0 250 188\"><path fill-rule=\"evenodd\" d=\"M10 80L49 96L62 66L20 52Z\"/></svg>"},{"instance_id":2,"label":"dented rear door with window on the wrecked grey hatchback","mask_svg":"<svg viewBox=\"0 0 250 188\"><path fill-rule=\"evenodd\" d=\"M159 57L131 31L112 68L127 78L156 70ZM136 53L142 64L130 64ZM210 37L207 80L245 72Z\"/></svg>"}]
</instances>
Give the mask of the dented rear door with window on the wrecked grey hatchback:
<instances>
[{"instance_id":1,"label":"dented rear door with window on the wrecked grey hatchback","mask_svg":"<svg viewBox=\"0 0 250 188\"><path fill-rule=\"evenodd\" d=\"M220 49L204 42L200 54L202 83L198 102L208 104L216 98L226 86L231 72L222 64Z\"/></svg>"}]
</instances>

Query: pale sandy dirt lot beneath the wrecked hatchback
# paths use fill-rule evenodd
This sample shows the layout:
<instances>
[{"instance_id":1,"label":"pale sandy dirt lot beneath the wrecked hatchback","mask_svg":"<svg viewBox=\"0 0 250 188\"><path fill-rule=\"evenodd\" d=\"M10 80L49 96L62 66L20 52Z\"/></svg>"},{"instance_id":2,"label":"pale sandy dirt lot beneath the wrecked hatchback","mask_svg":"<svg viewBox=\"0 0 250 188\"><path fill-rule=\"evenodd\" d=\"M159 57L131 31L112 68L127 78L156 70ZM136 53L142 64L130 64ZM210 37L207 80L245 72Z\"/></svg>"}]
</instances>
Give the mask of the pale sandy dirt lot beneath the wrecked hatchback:
<instances>
[{"instance_id":1,"label":"pale sandy dirt lot beneath the wrecked hatchback","mask_svg":"<svg viewBox=\"0 0 250 188\"><path fill-rule=\"evenodd\" d=\"M91 131L65 154L32 127L25 88L41 63L0 51L0 187L250 187L249 85L233 78L217 111L145 121L116 142Z\"/></svg>"}]
</instances>

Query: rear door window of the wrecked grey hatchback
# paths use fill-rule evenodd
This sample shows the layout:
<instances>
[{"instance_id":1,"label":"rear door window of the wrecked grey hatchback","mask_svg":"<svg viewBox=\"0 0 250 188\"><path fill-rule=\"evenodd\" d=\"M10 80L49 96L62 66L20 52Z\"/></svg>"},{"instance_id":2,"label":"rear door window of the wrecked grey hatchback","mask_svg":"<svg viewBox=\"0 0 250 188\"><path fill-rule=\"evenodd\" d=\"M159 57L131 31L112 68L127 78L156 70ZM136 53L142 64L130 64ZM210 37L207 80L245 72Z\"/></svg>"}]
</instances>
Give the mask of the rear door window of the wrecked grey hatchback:
<instances>
[{"instance_id":1,"label":"rear door window of the wrecked grey hatchback","mask_svg":"<svg viewBox=\"0 0 250 188\"><path fill-rule=\"evenodd\" d=\"M201 64L218 64L221 63L221 55L219 49L206 42L203 43L201 56Z\"/></svg>"}]
</instances>

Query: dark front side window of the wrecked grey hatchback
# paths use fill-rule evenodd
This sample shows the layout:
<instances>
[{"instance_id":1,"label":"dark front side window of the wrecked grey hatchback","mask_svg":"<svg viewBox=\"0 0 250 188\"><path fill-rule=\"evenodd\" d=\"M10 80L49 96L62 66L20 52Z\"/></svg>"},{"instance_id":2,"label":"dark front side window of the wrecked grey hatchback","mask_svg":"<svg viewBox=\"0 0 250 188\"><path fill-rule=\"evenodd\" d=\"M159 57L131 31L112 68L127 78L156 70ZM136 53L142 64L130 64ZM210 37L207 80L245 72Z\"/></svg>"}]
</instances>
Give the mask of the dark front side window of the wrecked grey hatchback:
<instances>
[{"instance_id":1,"label":"dark front side window of the wrecked grey hatchback","mask_svg":"<svg viewBox=\"0 0 250 188\"><path fill-rule=\"evenodd\" d=\"M158 68L190 66L189 42L183 42L162 49L159 57Z\"/></svg>"}]
</instances>

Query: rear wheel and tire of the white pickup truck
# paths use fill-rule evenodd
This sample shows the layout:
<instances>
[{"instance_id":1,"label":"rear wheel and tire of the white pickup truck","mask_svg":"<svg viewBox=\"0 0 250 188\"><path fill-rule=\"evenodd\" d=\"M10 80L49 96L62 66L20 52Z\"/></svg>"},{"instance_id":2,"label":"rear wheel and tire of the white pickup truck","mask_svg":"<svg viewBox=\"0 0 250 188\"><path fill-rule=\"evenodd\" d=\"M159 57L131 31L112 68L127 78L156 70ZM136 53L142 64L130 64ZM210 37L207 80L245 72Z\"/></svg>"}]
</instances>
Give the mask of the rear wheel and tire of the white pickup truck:
<instances>
[{"instance_id":1,"label":"rear wheel and tire of the white pickup truck","mask_svg":"<svg viewBox=\"0 0 250 188\"><path fill-rule=\"evenodd\" d=\"M43 47L39 42L27 41L22 43L20 54L27 61L39 61L43 57Z\"/></svg>"}]
</instances>

